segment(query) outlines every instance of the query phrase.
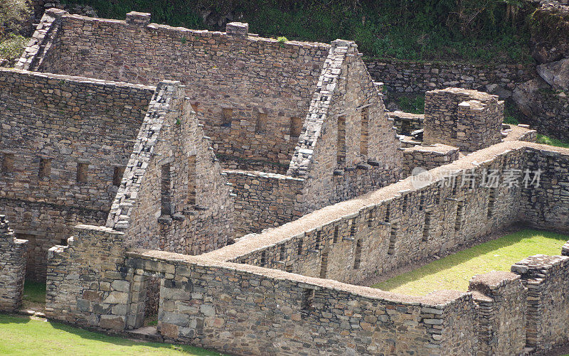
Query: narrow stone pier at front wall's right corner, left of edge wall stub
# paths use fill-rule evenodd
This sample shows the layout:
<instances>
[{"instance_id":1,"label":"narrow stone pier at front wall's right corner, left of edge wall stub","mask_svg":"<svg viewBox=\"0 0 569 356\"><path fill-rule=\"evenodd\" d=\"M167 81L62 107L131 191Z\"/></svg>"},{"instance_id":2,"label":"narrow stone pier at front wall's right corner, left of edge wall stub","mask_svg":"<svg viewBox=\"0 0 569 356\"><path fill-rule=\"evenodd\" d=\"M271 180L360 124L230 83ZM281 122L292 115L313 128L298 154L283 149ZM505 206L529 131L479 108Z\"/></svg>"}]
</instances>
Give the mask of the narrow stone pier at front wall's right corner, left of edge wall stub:
<instances>
[{"instance_id":1,"label":"narrow stone pier at front wall's right corner, left of edge wall stub","mask_svg":"<svg viewBox=\"0 0 569 356\"><path fill-rule=\"evenodd\" d=\"M527 289L520 276L493 271L469 282L478 316L478 355L522 355L526 347Z\"/></svg>"}]
</instances>

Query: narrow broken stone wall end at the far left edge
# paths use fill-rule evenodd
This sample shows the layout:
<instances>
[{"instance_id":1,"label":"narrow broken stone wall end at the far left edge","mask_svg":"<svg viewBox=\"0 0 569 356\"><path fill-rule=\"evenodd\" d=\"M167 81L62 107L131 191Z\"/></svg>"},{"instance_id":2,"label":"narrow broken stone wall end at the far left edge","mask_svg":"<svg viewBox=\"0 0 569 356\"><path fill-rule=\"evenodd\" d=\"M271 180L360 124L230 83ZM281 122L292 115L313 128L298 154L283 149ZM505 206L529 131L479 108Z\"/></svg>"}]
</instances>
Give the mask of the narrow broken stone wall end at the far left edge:
<instances>
[{"instance_id":1,"label":"narrow broken stone wall end at the far left edge","mask_svg":"<svg viewBox=\"0 0 569 356\"><path fill-rule=\"evenodd\" d=\"M0 215L0 311L17 311L21 306L27 244L16 239L6 216Z\"/></svg>"}]
</instances>

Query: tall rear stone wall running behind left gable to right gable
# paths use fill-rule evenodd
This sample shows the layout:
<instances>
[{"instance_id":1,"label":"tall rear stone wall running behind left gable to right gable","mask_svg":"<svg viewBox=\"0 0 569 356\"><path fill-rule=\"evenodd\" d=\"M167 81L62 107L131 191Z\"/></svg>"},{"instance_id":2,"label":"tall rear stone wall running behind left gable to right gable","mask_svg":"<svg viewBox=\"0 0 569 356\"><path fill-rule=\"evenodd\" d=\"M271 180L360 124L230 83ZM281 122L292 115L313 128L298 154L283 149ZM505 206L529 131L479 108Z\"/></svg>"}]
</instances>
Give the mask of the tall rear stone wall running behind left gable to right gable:
<instances>
[{"instance_id":1,"label":"tall rear stone wall running behind left gable to right gable","mask_svg":"<svg viewBox=\"0 0 569 356\"><path fill-rule=\"evenodd\" d=\"M231 26L226 33L174 28L149 23L150 14L58 16L43 60L32 48L19 68L151 85L179 80L220 158L288 165L298 136L292 126L302 127L329 45L279 43Z\"/></svg>"}]
</instances>

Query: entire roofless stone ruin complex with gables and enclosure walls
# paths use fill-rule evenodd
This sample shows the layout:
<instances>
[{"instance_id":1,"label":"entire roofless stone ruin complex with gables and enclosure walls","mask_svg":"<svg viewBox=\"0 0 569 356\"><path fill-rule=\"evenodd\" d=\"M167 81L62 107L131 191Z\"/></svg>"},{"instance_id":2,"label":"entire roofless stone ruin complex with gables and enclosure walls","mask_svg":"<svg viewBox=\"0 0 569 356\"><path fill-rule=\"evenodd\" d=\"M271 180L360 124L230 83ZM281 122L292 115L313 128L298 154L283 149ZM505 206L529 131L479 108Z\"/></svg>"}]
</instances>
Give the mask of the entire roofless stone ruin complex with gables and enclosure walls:
<instances>
[{"instance_id":1,"label":"entire roofless stone ruin complex with gables and enclosure walls","mask_svg":"<svg viewBox=\"0 0 569 356\"><path fill-rule=\"evenodd\" d=\"M568 248L466 293L356 285L512 224L569 232L569 150L504 128L491 95L429 92L403 124L380 88L351 41L46 11L0 70L0 309L27 274L46 281L48 318L133 336L154 299L158 340L239 355L568 340ZM541 185L464 184L511 168Z\"/></svg>"}]
</instances>

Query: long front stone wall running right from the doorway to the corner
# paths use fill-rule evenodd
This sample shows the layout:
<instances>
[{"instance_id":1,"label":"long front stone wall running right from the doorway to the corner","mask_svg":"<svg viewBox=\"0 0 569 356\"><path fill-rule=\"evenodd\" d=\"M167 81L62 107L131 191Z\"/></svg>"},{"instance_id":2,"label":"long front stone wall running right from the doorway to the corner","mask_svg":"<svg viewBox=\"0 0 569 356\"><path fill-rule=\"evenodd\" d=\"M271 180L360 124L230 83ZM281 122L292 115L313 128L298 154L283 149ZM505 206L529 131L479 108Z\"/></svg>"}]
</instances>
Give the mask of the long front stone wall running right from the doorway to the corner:
<instances>
[{"instance_id":1,"label":"long front stone wall running right from the doorway to the corner","mask_svg":"<svg viewBox=\"0 0 569 356\"><path fill-rule=\"evenodd\" d=\"M398 296L158 251L129 253L128 263L162 279L159 330L173 342L237 355L464 355L476 347L469 294Z\"/></svg>"}]
</instances>

